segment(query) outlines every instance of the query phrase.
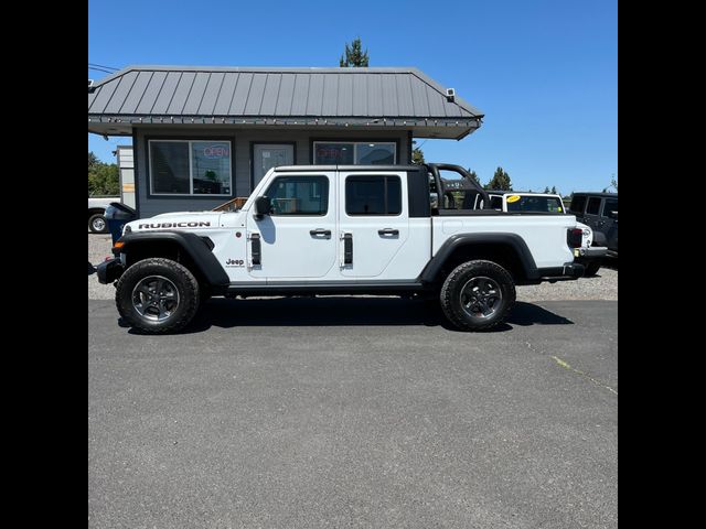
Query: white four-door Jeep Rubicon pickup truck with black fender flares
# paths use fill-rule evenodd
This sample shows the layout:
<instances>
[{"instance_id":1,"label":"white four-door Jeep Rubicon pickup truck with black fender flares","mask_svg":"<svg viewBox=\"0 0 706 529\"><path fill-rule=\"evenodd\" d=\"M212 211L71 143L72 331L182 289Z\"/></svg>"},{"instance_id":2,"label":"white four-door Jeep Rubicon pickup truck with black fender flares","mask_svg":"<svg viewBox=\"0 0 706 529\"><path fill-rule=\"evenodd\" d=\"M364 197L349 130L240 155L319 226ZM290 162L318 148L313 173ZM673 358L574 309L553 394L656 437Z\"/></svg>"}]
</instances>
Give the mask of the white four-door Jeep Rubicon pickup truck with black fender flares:
<instances>
[{"instance_id":1,"label":"white four-door Jeep Rubicon pickup truck with black fender flares","mask_svg":"<svg viewBox=\"0 0 706 529\"><path fill-rule=\"evenodd\" d=\"M491 209L458 165L280 166L236 212L126 224L97 274L149 333L183 328L212 295L315 294L432 296L480 331L503 322L516 284L580 277L581 236L571 215Z\"/></svg>"}]
</instances>

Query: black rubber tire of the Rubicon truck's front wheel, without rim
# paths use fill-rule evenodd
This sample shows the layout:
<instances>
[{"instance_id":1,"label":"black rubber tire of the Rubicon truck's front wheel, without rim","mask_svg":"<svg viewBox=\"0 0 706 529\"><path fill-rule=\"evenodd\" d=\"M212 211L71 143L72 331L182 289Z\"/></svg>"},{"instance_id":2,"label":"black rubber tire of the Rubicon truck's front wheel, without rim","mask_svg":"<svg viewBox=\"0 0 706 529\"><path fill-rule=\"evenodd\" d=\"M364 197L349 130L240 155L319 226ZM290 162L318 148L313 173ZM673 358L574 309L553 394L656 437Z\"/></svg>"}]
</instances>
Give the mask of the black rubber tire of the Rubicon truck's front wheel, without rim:
<instances>
[{"instance_id":1,"label":"black rubber tire of the Rubicon truck's front wheel, without rim","mask_svg":"<svg viewBox=\"0 0 706 529\"><path fill-rule=\"evenodd\" d=\"M169 280L179 293L178 306L163 321L154 321L140 314L133 303L133 290L146 278L162 277ZM115 303L120 316L131 327L150 334L167 334L181 331L196 314L201 301L199 281L188 268L176 261L151 258L129 267L116 284Z\"/></svg>"}]
</instances>

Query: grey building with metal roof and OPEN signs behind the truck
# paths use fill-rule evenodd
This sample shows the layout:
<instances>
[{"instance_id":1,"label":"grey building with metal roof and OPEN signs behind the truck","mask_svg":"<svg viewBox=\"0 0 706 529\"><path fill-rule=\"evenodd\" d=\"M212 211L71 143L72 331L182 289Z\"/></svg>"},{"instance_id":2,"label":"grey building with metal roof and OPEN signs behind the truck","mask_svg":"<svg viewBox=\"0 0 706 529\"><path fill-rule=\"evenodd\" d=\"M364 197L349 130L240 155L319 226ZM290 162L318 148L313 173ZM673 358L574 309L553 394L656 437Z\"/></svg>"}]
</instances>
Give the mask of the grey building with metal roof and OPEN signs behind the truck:
<instances>
[{"instance_id":1,"label":"grey building with metal roof and OPEN signs behind the truck","mask_svg":"<svg viewBox=\"0 0 706 529\"><path fill-rule=\"evenodd\" d=\"M88 132L130 136L147 217L247 196L275 165L405 164L483 114L416 68L129 66L88 88Z\"/></svg>"}]
</instances>

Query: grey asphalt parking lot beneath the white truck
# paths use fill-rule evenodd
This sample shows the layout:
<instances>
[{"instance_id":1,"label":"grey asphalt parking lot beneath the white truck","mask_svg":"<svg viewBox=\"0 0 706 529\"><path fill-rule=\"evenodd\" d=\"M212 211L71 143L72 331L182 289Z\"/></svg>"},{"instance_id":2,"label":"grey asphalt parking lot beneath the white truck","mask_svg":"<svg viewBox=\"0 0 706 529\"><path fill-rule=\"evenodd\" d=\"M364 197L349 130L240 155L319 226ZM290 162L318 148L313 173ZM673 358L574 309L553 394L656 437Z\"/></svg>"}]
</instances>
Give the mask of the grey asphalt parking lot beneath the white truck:
<instances>
[{"instance_id":1,"label":"grey asphalt parking lot beneath the white truck","mask_svg":"<svg viewBox=\"0 0 706 529\"><path fill-rule=\"evenodd\" d=\"M88 324L92 528L617 527L616 301L477 334L394 298Z\"/></svg>"}]
</instances>

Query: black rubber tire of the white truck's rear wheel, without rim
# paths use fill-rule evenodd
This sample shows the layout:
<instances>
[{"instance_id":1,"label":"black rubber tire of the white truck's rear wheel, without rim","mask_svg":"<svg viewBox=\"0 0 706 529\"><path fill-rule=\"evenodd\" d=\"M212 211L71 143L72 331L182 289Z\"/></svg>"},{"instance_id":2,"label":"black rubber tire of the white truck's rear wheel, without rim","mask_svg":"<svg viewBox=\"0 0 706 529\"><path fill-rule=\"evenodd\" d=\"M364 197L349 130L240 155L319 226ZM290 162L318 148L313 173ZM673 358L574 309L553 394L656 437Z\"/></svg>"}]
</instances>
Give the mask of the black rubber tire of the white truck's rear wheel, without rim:
<instances>
[{"instance_id":1,"label":"black rubber tire of the white truck's rear wheel, without rim","mask_svg":"<svg viewBox=\"0 0 706 529\"><path fill-rule=\"evenodd\" d=\"M496 284L502 296L489 316L473 316L462 305L461 294L474 278L488 278ZM441 309L449 322L462 331L484 331L500 325L515 303L512 276L493 261L473 260L459 264L446 278L439 293Z\"/></svg>"}]
</instances>

